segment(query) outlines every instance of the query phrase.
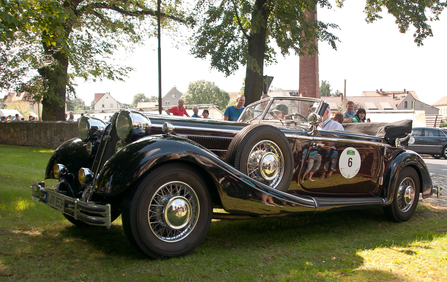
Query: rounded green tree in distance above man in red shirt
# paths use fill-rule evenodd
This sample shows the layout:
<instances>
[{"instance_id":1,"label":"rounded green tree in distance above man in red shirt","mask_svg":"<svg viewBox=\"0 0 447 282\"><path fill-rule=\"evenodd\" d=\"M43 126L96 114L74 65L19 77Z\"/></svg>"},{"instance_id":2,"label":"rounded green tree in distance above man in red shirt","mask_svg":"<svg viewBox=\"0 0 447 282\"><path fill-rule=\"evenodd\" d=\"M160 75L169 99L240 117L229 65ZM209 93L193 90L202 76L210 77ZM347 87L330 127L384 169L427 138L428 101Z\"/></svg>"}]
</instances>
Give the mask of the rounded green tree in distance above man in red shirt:
<instances>
[{"instance_id":1,"label":"rounded green tree in distance above man in red shirt","mask_svg":"<svg viewBox=\"0 0 447 282\"><path fill-rule=\"evenodd\" d=\"M223 110L227 107L230 95L214 82L198 80L190 82L181 98L187 105L215 104L220 110Z\"/></svg>"}]
</instances>

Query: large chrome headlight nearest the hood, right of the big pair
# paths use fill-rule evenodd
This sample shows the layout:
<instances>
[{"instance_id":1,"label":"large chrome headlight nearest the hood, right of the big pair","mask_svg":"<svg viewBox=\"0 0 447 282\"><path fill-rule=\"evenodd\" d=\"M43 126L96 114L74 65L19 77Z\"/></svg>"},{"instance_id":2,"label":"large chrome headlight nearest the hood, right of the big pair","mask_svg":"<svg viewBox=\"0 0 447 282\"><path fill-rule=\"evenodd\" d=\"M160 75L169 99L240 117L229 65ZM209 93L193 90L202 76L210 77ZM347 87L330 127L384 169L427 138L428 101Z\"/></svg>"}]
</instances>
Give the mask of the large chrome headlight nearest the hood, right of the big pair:
<instances>
[{"instance_id":1,"label":"large chrome headlight nearest the hood, right of the big pair","mask_svg":"<svg viewBox=\"0 0 447 282\"><path fill-rule=\"evenodd\" d=\"M139 111L122 110L116 119L116 133L123 142L149 134L151 121Z\"/></svg>"}]
</instances>

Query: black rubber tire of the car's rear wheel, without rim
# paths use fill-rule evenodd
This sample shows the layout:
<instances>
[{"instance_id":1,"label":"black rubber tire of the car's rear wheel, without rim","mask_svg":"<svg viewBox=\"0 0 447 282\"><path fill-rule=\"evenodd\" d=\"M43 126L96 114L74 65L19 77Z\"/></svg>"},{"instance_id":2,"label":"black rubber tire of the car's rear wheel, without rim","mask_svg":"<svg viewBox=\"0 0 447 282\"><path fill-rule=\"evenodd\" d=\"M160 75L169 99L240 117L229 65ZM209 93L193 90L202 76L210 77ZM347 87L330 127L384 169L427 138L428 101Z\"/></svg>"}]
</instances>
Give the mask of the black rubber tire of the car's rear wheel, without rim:
<instances>
[{"instance_id":1,"label":"black rubber tire of the car's rear wheel, without rim","mask_svg":"<svg viewBox=\"0 0 447 282\"><path fill-rule=\"evenodd\" d=\"M399 207L397 206L397 190L399 189L399 185L401 184L402 180L406 177L410 177L413 179L414 182L414 201L412 206L408 211L401 212L399 210ZM420 183L419 183L419 175L417 175L417 172L411 168L411 167L405 167L398 176L396 187L394 187L394 195L392 199L392 203L384 207L384 212L386 216L396 222L404 222L409 220L412 216L414 211L416 210L417 202L419 201L419 192L420 192Z\"/></svg>"}]
</instances>

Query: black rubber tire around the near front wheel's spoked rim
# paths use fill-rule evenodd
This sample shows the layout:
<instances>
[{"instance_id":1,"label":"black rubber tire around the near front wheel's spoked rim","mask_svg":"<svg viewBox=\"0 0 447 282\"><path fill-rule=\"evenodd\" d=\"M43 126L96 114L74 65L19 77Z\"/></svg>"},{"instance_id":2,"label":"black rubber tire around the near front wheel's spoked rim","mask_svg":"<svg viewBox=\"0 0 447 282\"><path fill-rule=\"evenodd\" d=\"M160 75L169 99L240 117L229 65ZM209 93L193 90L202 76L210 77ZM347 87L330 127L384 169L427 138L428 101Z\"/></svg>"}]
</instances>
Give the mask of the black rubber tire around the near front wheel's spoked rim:
<instances>
[{"instance_id":1,"label":"black rubber tire around the near front wheel's spoked rim","mask_svg":"<svg viewBox=\"0 0 447 282\"><path fill-rule=\"evenodd\" d=\"M165 182L166 179L173 177L175 174L183 174L183 176L171 179L171 181L182 180L194 188L200 205L199 219L194 229L185 239L177 242L164 242L153 235L152 231L145 230L149 227L139 224L139 205L141 201L145 201L142 196L148 196L148 193L153 194L158 189L157 182L167 183ZM194 183L195 181L198 181L198 183ZM198 171L185 164L170 163L150 171L138 185L132 188L123 201L122 226L131 244L144 255L155 259L186 256L193 252L202 243L211 225L213 209L211 197L206 187L205 182L200 179ZM142 238L143 236L144 238ZM152 245L146 244L150 240L152 240ZM191 241L193 242L188 243ZM172 249L172 251L166 252L166 249Z\"/></svg>"}]
</instances>

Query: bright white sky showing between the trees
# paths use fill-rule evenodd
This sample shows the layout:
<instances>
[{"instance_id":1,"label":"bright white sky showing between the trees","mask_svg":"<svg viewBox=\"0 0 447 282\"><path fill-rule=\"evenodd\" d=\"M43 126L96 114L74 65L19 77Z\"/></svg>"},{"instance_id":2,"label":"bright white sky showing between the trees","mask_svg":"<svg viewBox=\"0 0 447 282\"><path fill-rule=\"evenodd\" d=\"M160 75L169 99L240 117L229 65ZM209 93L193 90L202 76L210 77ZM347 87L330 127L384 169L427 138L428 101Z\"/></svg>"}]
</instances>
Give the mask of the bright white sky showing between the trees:
<instances>
[{"instance_id":1,"label":"bright white sky showing between the trees","mask_svg":"<svg viewBox=\"0 0 447 282\"><path fill-rule=\"evenodd\" d=\"M334 1L331 1L334 2ZM364 1L345 1L339 9L318 9L318 20L335 23L339 30L331 30L341 42L334 50L328 43L319 42L319 77L328 81L331 89L346 95L360 96L362 91L416 91L419 100L433 104L447 96L444 81L447 74L447 11L440 20L430 22L433 37L426 38L423 46L413 41L414 28L399 33L395 18L382 13L383 19L367 24L363 13ZM227 92L237 92L245 78L245 66L225 77L210 69L209 60L194 58L189 47L173 47L173 42L161 34L162 96L172 87L184 93L191 81L213 81ZM76 95L86 105L93 101L94 93L110 92L121 103L132 102L135 94L158 96L158 64L156 38L149 39L132 54L118 53L115 60L135 68L125 82L85 82L76 80ZM266 65L264 75L273 76L270 89L299 89L299 56L277 56L278 63Z\"/></svg>"}]
</instances>

